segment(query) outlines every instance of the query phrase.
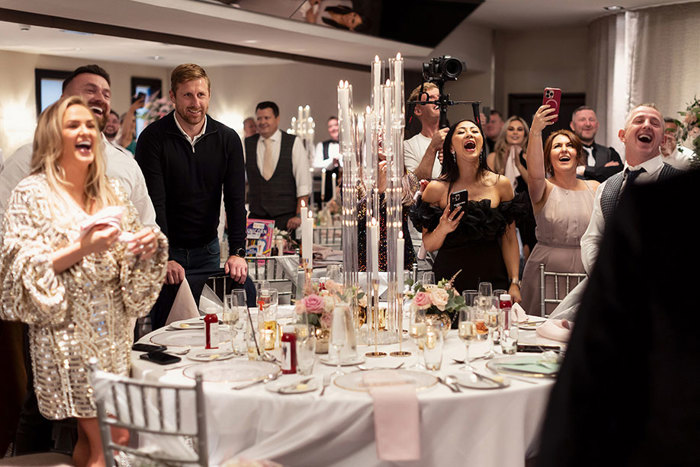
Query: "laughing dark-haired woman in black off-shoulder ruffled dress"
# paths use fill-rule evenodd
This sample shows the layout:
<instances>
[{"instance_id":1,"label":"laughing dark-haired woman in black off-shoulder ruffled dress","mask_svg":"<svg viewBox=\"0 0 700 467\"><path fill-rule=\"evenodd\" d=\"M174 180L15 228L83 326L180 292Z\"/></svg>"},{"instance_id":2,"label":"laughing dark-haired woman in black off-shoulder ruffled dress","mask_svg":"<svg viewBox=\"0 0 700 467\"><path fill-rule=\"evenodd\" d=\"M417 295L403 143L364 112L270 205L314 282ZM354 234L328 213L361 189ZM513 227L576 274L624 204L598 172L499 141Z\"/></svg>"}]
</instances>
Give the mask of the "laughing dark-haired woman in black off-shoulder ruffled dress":
<instances>
[{"instance_id":1,"label":"laughing dark-haired woman in black off-shoulder ruffled dress","mask_svg":"<svg viewBox=\"0 0 700 467\"><path fill-rule=\"evenodd\" d=\"M482 148L483 135L474 122L463 120L450 128L442 173L426 187L412 219L422 228L426 250L439 250L433 265L436 279L459 272L454 287L460 292L491 282L520 301L514 221L527 206L513 198L506 177L488 170ZM461 190L468 192L466 206L446 209L450 194Z\"/></svg>"}]
</instances>

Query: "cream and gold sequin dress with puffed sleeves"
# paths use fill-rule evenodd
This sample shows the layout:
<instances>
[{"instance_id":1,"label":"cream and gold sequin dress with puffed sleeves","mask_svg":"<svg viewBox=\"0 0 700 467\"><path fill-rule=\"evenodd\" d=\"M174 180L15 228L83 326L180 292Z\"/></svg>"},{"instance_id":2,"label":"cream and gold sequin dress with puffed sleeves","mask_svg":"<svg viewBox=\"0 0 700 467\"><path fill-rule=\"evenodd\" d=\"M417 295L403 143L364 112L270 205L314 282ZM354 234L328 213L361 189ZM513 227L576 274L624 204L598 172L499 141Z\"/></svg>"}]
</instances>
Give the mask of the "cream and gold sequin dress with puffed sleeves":
<instances>
[{"instance_id":1,"label":"cream and gold sequin dress with puffed sleeves","mask_svg":"<svg viewBox=\"0 0 700 467\"><path fill-rule=\"evenodd\" d=\"M110 181L127 206L125 230L141 228L133 205ZM139 260L126 245L85 256L66 271L54 273L51 254L79 234L88 217L78 205L57 218L44 175L31 175L15 188L3 223L0 250L0 317L29 325L34 387L39 410L49 419L95 417L87 366L127 374L133 329L130 318L148 314L166 272L167 240Z\"/></svg>"}]
</instances>

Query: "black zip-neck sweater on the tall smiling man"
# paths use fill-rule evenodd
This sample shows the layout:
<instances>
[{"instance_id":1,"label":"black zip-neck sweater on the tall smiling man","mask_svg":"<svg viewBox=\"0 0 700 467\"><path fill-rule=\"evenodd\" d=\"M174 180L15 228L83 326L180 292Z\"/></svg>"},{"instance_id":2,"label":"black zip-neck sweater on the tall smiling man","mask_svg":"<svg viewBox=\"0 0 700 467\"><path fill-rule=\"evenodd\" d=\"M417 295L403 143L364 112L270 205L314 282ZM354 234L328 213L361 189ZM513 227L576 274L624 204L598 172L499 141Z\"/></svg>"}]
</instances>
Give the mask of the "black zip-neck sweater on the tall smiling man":
<instances>
[{"instance_id":1,"label":"black zip-neck sweater on the tall smiling man","mask_svg":"<svg viewBox=\"0 0 700 467\"><path fill-rule=\"evenodd\" d=\"M223 188L229 254L245 247L245 166L234 130L207 116L193 148L170 113L141 133L136 162L171 246L198 248L216 238Z\"/></svg>"}]
</instances>

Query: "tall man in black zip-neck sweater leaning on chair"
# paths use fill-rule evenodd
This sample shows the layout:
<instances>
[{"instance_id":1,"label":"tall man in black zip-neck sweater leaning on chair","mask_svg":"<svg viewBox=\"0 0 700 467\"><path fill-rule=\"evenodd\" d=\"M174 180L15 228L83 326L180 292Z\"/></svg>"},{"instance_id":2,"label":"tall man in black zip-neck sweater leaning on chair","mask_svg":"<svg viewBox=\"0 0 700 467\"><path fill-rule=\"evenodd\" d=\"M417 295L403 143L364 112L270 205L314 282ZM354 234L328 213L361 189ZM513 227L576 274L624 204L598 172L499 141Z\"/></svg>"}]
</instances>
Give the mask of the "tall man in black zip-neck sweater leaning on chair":
<instances>
[{"instance_id":1,"label":"tall man in black zip-neck sweater leaning on chair","mask_svg":"<svg viewBox=\"0 0 700 467\"><path fill-rule=\"evenodd\" d=\"M217 226L222 189L229 240L224 269L243 283L248 267L241 140L207 115L211 85L204 69L180 65L170 79L175 110L146 127L136 146L156 222L170 242L166 283L181 283L187 270L220 267Z\"/></svg>"}]
</instances>

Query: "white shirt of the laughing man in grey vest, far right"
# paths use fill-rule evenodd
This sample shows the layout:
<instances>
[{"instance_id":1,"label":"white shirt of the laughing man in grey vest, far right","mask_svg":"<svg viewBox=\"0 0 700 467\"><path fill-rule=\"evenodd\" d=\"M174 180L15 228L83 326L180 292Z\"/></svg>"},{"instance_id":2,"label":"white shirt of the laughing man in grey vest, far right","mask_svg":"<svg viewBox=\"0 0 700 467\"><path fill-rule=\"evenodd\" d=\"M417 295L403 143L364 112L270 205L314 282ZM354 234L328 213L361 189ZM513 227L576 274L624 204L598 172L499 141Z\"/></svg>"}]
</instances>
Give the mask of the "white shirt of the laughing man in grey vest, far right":
<instances>
[{"instance_id":1,"label":"white shirt of the laughing man in grey vest, far right","mask_svg":"<svg viewBox=\"0 0 700 467\"><path fill-rule=\"evenodd\" d=\"M644 168L645 172L639 174L635 183L649 183L654 182L659 178L659 173L661 173L663 164L664 161L662 156L658 155L636 166L631 166L625 162L625 168L623 170L627 170L629 168L629 170L634 171ZM600 241L603 238L603 231L605 230L605 219L603 217L603 210L600 206L600 197L607 183L607 180L601 183L595 193L591 221L588 223L586 233L584 233L583 237L581 237L581 260L583 261L583 268L586 270L586 274L589 275L591 274L595 260L598 257ZM625 181L623 181L620 190L624 190L624 188Z\"/></svg>"}]
</instances>

